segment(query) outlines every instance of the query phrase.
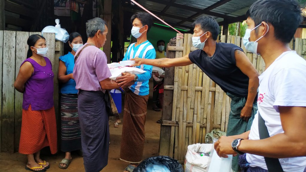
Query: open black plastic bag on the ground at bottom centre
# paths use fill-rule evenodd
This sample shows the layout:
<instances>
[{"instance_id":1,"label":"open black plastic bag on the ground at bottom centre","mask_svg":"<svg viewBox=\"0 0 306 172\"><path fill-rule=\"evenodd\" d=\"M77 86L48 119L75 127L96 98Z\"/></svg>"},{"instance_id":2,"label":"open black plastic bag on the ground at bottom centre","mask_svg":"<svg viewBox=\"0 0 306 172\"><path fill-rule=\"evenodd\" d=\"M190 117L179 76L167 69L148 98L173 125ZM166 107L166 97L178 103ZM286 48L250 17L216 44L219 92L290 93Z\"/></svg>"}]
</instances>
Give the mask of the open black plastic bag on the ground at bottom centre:
<instances>
[{"instance_id":1,"label":"open black plastic bag on the ground at bottom centre","mask_svg":"<svg viewBox=\"0 0 306 172\"><path fill-rule=\"evenodd\" d=\"M141 162L133 172L146 172L147 166L150 164L162 164L166 166L171 172L184 172L182 165L175 159L169 156L155 156L150 157Z\"/></svg>"}]
</instances>

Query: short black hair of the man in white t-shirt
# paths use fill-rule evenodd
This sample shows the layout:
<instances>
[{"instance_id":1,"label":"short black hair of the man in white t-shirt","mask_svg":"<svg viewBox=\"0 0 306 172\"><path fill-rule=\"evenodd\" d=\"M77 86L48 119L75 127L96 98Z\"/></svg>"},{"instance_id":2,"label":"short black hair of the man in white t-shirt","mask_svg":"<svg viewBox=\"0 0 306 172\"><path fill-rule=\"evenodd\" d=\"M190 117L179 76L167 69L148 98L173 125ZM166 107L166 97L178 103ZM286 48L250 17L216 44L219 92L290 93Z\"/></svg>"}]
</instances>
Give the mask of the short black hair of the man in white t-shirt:
<instances>
[{"instance_id":1,"label":"short black hair of the man in white t-shirt","mask_svg":"<svg viewBox=\"0 0 306 172\"><path fill-rule=\"evenodd\" d=\"M246 13L255 26L262 21L272 24L274 36L289 43L302 22L301 9L296 0L258 0Z\"/></svg>"}]
</instances>

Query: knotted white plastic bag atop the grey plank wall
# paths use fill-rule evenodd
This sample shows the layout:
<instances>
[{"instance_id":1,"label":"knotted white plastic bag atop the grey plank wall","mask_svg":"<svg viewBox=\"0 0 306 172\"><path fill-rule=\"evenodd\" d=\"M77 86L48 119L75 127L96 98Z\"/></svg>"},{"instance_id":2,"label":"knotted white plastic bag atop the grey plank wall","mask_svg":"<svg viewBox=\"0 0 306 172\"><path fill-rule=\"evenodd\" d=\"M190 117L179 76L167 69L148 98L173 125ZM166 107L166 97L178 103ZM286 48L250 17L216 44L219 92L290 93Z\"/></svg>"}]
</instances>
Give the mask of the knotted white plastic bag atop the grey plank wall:
<instances>
[{"instance_id":1,"label":"knotted white plastic bag atop the grey plank wall","mask_svg":"<svg viewBox=\"0 0 306 172\"><path fill-rule=\"evenodd\" d=\"M42 34L44 32L46 33L55 33L55 39L56 40L60 40L64 43L66 43L69 39L69 34L68 32L61 28L61 25L59 24L59 19L55 19L55 26L46 26L45 28L43 28L43 30L41 31Z\"/></svg>"}]
</instances>

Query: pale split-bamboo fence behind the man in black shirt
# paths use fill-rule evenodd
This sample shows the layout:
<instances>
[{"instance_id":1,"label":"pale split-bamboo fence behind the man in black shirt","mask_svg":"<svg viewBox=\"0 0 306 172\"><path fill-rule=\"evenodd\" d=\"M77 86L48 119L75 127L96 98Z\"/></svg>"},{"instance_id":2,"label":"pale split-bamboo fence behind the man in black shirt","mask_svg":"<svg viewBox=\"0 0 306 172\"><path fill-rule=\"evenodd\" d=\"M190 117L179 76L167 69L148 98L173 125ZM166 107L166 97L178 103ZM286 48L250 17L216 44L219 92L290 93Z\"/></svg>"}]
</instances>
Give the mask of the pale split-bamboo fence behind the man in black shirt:
<instances>
[{"instance_id":1,"label":"pale split-bamboo fence behind the man in black shirt","mask_svg":"<svg viewBox=\"0 0 306 172\"><path fill-rule=\"evenodd\" d=\"M177 35L180 36L180 35ZM167 56L175 53L175 58L196 50L191 43L191 34L185 34L184 39L177 37L176 46L167 45ZM261 56L248 52L240 36L221 35L223 43L233 43L241 47L259 74L264 72L265 63ZM289 46L306 59L306 39L293 40ZM160 155L167 155L183 162L187 146L195 143L205 143L206 133L211 130L226 132L230 113L230 97L195 64L175 67L174 73L166 71L166 78L174 78L174 82L165 82L165 93L173 90L173 99L167 96L164 105L170 105L162 114ZM169 77L169 78L168 78ZM164 106L165 107L165 106ZM172 114L172 120L169 120ZM166 128L165 128L166 127ZM168 127L168 128L167 128ZM171 128L171 129L170 129ZM163 136L170 136L164 139ZM169 144L170 140L170 144ZM168 151L169 150L169 151ZM174 153L173 153L174 152Z\"/></svg>"}]
</instances>

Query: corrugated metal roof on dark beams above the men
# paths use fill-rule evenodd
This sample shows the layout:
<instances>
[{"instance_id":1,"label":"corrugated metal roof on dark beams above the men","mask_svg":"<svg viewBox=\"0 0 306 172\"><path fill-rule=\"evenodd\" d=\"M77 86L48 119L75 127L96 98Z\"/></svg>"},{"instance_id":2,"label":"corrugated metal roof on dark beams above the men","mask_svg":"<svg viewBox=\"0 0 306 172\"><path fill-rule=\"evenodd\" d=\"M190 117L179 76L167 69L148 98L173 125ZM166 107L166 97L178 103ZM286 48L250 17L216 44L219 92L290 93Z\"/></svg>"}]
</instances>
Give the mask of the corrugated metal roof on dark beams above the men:
<instances>
[{"instance_id":1,"label":"corrugated metal roof on dark beams above the men","mask_svg":"<svg viewBox=\"0 0 306 172\"><path fill-rule=\"evenodd\" d=\"M202 9L212 8L211 6L214 8L210 11L204 11L204 13L218 16L215 17L217 22L224 21L224 18L232 22L241 21L244 18L241 16L246 13L256 0L229 0L224 4L221 0L176 0L171 3L170 0L138 0L137 2L153 13L155 12L156 15L162 16L166 22L176 23L175 27L185 29L183 28L184 26L192 28L192 21L197 18L208 16L203 14ZM164 10L165 8L166 10ZM135 8L135 10L142 9ZM195 17L188 19L188 17L193 15ZM235 19L235 17L238 18Z\"/></svg>"}]
</instances>

